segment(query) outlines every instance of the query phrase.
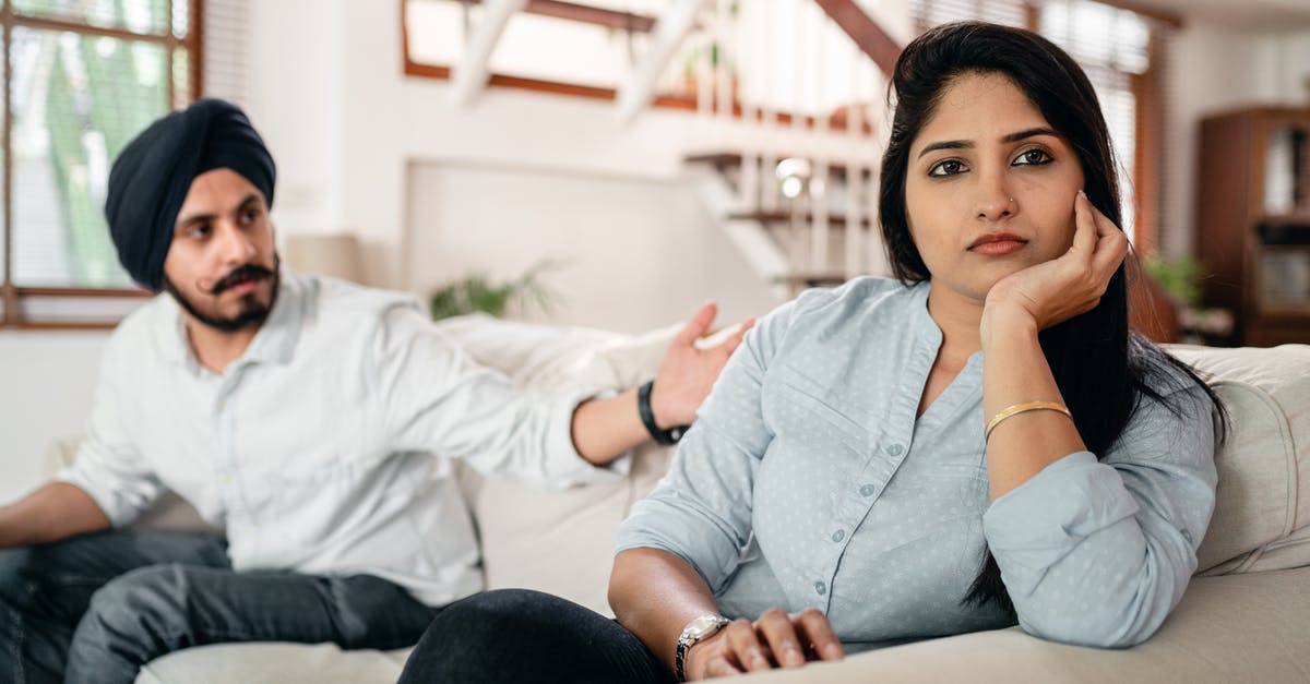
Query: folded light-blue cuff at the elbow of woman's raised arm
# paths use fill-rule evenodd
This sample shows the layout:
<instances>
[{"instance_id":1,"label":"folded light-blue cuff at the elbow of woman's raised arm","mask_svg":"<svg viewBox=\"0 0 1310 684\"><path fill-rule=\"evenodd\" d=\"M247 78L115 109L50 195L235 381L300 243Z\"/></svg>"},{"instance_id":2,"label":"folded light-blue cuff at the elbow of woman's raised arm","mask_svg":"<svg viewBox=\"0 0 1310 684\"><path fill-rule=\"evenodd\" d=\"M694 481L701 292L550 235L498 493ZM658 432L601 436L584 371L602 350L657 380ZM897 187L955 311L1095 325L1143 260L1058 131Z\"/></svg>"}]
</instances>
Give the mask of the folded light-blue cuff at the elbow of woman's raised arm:
<instances>
[{"instance_id":1,"label":"folded light-blue cuff at the elbow of woman's raised arm","mask_svg":"<svg viewBox=\"0 0 1310 684\"><path fill-rule=\"evenodd\" d=\"M1114 466L1078 451L992 502L982 533L1006 586L1027 594L1083 539L1137 510Z\"/></svg>"}]
</instances>

